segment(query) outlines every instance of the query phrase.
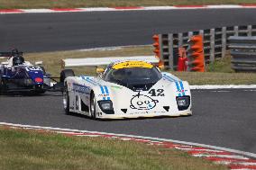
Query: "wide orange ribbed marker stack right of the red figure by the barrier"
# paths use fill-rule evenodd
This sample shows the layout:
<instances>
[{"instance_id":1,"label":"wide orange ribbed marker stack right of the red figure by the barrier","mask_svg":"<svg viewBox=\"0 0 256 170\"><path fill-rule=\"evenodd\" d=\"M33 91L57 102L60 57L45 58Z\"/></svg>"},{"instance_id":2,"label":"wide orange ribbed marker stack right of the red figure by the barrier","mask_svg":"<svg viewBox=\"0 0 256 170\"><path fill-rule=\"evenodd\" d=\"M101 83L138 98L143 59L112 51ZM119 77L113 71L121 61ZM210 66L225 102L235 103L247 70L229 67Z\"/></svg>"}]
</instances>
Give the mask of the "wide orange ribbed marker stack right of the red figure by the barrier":
<instances>
[{"instance_id":1,"label":"wide orange ribbed marker stack right of the red figure by the barrier","mask_svg":"<svg viewBox=\"0 0 256 170\"><path fill-rule=\"evenodd\" d=\"M188 40L187 66L190 71L205 72L205 54L202 35L194 35Z\"/></svg>"}]
</instances>

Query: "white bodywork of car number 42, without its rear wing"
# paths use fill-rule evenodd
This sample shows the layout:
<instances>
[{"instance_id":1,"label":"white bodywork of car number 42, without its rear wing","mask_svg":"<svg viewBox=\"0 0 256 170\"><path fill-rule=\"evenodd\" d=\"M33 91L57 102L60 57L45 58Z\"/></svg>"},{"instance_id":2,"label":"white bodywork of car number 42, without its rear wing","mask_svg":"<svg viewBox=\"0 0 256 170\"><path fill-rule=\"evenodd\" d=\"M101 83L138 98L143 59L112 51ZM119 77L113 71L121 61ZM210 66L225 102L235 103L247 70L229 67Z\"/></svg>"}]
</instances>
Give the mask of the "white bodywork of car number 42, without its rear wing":
<instances>
[{"instance_id":1,"label":"white bodywork of car number 42, without its rear wing","mask_svg":"<svg viewBox=\"0 0 256 170\"><path fill-rule=\"evenodd\" d=\"M64 108L68 106L69 108L65 109L69 112L77 112L99 119L192 114L191 94L186 81L181 81L167 72L160 73L159 69L157 69L159 72L157 74L160 77L152 83L142 84L140 82L140 84L130 85L129 83L128 85L107 79L106 75L111 70L116 70L118 66L117 69L120 70L125 68L128 71L134 68L139 70L135 72L135 75L130 76L132 79L142 72L140 71L142 69L146 71L157 69L151 63L142 60L124 60L110 64L100 76L69 76L64 81L67 89L67 94L63 98ZM124 67L120 68L120 66Z\"/></svg>"}]
</instances>

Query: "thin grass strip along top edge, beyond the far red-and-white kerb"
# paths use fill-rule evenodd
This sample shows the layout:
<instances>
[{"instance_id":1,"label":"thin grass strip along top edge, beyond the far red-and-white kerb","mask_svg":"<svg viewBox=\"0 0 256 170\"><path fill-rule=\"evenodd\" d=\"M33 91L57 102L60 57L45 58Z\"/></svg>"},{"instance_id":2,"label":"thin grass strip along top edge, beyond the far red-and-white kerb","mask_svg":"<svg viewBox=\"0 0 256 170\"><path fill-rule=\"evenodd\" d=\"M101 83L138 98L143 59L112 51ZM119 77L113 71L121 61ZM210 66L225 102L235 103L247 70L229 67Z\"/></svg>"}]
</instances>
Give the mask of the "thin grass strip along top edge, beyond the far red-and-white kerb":
<instances>
[{"instance_id":1,"label":"thin grass strip along top edge, beyond the far red-and-white kerb","mask_svg":"<svg viewBox=\"0 0 256 170\"><path fill-rule=\"evenodd\" d=\"M0 0L0 8L71 8L187 4L255 4L255 0Z\"/></svg>"}]
</instances>

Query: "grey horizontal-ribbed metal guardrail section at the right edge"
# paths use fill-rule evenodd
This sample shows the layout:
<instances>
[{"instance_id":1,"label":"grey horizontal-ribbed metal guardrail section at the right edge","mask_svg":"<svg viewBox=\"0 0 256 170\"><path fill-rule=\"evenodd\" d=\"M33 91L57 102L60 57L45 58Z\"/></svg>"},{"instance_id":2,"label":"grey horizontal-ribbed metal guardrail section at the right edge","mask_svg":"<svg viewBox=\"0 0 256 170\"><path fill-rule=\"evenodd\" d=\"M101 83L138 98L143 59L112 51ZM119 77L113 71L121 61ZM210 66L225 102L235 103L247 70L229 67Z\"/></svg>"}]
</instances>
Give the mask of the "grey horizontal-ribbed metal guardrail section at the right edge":
<instances>
[{"instance_id":1,"label":"grey horizontal-ribbed metal guardrail section at the right edge","mask_svg":"<svg viewBox=\"0 0 256 170\"><path fill-rule=\"evenodd\" d=\"M232 68L235 71L256 71L256 36L228 38L232 58Z\"/></svg>"}]
</instances>

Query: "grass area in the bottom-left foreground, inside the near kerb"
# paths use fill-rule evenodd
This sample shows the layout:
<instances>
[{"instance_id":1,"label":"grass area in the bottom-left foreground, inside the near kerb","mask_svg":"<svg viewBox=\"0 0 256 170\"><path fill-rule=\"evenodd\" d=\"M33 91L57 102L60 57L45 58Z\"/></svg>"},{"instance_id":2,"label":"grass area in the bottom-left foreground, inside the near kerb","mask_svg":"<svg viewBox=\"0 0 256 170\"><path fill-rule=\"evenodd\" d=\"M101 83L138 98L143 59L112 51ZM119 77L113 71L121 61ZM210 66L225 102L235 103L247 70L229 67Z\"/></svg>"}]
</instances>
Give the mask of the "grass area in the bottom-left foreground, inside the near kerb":
<instances>
[{"instance_id":1,"label":"grass area in the bottom-left foreground, inside the near kerb","mask_svg":"<svg viewBox=\"0 0 256 170\"><path fill-rule=\"evenodd\" d=\"M0 127L0 169L25 170L222 170L175 149L118 139L67 137Z\"/></svg>"}]
</instances>

